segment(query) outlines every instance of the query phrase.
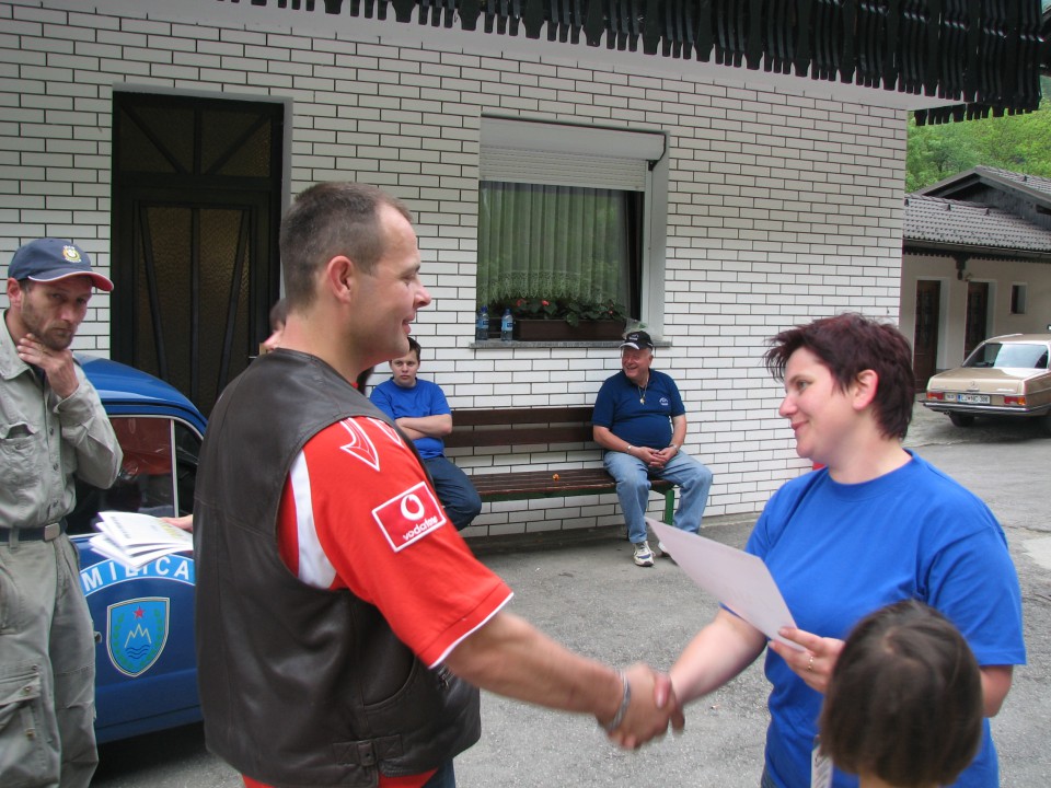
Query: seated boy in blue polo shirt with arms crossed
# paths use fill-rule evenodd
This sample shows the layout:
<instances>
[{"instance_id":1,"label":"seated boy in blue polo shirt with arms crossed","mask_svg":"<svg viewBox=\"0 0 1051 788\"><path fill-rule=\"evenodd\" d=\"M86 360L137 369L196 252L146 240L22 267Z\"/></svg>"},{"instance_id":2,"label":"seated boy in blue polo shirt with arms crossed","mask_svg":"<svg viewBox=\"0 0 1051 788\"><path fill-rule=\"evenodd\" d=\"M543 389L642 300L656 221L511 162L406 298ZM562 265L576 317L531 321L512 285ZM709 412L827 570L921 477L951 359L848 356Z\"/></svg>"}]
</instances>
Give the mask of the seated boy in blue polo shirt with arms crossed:
<instances>
[{"instance_id":1,"label":"seated boy in blue polo shirt with arms crossed","mask_svg":"<svg viewBox=\"0 0 1051 788\"><path fill-rule=\"evenodd\" d=\"M441 439L452 432L452 410L441 386L416 378L418 341L409 337L408 352L391 361L391 372L390 380L376 386L369 398L413 439L435 483L438 500L452 524L462 531L482 511L482 499L467 475L446 457Z\"/></svg>"}]
</instances>

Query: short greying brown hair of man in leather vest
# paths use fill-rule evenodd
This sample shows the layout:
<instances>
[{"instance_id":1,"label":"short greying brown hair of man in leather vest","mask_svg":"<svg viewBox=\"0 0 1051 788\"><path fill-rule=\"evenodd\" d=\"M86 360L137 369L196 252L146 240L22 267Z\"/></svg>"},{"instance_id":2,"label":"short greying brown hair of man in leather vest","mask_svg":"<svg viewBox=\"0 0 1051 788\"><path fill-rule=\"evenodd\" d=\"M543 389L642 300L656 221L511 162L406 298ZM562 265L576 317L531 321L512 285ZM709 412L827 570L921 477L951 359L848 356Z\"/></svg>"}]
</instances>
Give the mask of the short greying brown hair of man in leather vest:
<instances>
[{"instance_id":1,"label":"short greying brown hair of man in leather vest","mask_svg":"<svg viewBox=\"0 0 1051 788\"><path fill-rule=\"evenodd\" d=\"M321 183L296 197L281 220L280 236L289 310L313 302L317 271L337 255L372 271L386 248L379 217L384 205L412 222L401 200L366 184Z\"/></svg>"}]
</instances>

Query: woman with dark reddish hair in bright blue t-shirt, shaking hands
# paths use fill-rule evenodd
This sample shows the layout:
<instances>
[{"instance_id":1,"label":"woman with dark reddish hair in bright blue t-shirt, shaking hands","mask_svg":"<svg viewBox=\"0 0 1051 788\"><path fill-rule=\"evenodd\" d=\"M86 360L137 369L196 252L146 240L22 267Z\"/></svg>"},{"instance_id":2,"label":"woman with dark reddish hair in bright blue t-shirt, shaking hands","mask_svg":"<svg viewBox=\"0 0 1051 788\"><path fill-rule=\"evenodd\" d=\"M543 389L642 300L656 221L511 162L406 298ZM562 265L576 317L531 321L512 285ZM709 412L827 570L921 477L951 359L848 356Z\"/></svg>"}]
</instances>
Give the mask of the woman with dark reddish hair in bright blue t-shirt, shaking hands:
<instances>
[{"instance_id":1,"label":"woman with dark reddish hair in bright blue t-shirt, shaking hands","mask_svg":"<svg viewBox=\"0 0 1051 788\"><path fill-rule=\"evenodd\" d=\"M978 659L992 717L1013 665L1026 659L1018 578L989 508L902 448L914 383L912 352L897 328L857 314L818 320L774 337L765 362L784 381L778 413L796 451L824 467L774 494L746 546L769 567L799 627L782 636L801 647L769 644L761 786L802 788L813 772L816 786L852 788L856 777L812 756L822 693L854 624L902 599L940 611ZM678 697L688 703L718 688L766 646L760 630L719 611L672 668ZM958 786L1000 785L988 720L983 727Z\"/></svg>"}]
</instances>

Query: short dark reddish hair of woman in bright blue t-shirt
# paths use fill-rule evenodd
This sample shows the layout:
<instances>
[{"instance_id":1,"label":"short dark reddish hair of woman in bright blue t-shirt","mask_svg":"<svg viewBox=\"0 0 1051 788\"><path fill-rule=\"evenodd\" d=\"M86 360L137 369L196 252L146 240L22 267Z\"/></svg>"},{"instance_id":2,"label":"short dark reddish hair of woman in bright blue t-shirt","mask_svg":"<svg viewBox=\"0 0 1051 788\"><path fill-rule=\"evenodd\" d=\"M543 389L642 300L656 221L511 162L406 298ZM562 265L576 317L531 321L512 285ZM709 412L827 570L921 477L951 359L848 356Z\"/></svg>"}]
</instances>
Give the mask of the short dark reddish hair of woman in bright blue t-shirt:
<instances>
[{"instance_id":1,"label":"short dark reddish hair of woman in bright blue t-shirt","mask_svg":"<svg viewBox=\"0 0 1051 788\"><path fill-rule=\"evenodd\" d=\"M807 348L829 368L840 391L846 391L865 370L873 370L878 378L873 398L876 424L887 438L905 437L916 396L915 375L912 348L894 326L846 312L788 328L770 343L763 361L779 381L799 348Z\"/></svg>"}]
</instances>

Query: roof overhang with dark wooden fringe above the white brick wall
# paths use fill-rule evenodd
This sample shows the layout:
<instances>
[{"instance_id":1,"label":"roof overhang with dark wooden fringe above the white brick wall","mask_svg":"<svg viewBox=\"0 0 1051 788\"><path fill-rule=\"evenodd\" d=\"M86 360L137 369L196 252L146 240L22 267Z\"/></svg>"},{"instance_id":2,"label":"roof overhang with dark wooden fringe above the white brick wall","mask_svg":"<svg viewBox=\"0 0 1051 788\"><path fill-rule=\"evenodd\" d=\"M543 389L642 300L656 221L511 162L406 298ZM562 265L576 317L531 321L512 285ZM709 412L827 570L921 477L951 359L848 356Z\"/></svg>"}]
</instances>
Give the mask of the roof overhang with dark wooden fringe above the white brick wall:
<instances>
[{"instance_id":1,"label":"roof overhang with dark wooden fringe above the white brick wall","mask_svg":"<svg viewBox=\"0 0 1051 788\"><path fill-rule=\"evenodd\" d=\"M521 0L520 4L497 3L505 15L496 18L497 24L492 32L485 30L484 14L482 18L477 15L477 9L480 7L490 8L492 0L490 2L484 0L391 0L390 2L388 0L270 0L269 2L267 0L90 0L90 2L91 5L101 11L132 18L148 18L183 24L216 22L250 31L269 32L276 30L297 36L335 40L353 38L355 42L374 42L402 47L427 47L429 49L462 51L481 57L539 58L541 61L550 63L600 68L642 77L711 81L730 88L775 91L802 95L813 100L831 100L888 109L943 108L943 112L945 112L945 108L958 107L961 104L961 96L958 92L956 95L947 95L947 93L951 94L954 91L947 90L944 84L939 84L937 80L929 76L922 81L922 85L916 82L916 79L923 76L916 73L917 70L923 72L925 68L935 62L935 59L927 57L925 54L921 55L921 53L929 49L932 42L935 45L939 43L936 36L942 35L942 28L937 26L931 26L929 30L921 33L922 38L919 42L917 54L910 58L915 67L902 67L902 71L909 70L912 73L913 88L919 92L887 86L866 86L857 84L857 80L853 78L844 81L834 69L831 69L831 73L829 73L829 69L824 69L823 73L816 76L816 71L819 70L813 66L816 60L809 62L808 69L804 70L802 73L800 73L799 63L792 69L792 73L778 72L776 68L771 66L770 53L764 54L762 49L757 49L758 46L764 45L762 39L763 28L775 24L778 20L773 18L779 14L783 18L779 22L785 26L785 32L778 40L793 39L789 43L790 45L785 45L787 49L793 49L793 47L798 49L799 42L802 38L807 38L809 42L811 35L817 38L817 33L811 34L810 31L799 33L787 24L795 21L796 14L802 13L799 9L811 7L811 3L806 0L785 0L773 4L754 1L746 3L744 0L740 0L738 10L726 11L712 10L707 2L693 5L690 0L686 0L685 3L681 0L625 2L625 8L639 10L640 16L634 21L612 19L614 8L621 5L620 2L613 0L609 5L610 19L600 19L599 23L593 23L591 19L587 20L586 24L591 26L584 33L588 35L581 34L581 25L577 24L575 28L578 37L577 43L573 43L573 35L567 36L567 40L561 40L562 34L566 32L566 25L559 26L548 21L555 13L555 7L552 5L553 0ZM600 8L598 0L593 0L593 2L596 8ZM1037 0L1013 0L1013 4L1018 3L1027 8L1033 2L1037 2ZM49 0L48 4L82 12L85 0ZM743 10L746 4L750 7L747 12ZM892 4L897 5L897 3ZM568 3L557 3L557 5L569 7ZM828 11L821 3L812 3L812 5L815 10L811 13L815 15L819 13L843 14L846 13L847 9L851 9L851 13L861 13L854 3L844 3L842 7L839 4L830 5L829 8L835 9L834 11ZM819 7L822 10L819 11ZM590 10L587 0L576 3L575 8L578 9L578 13L580 13L580 8L586 10L584 13ZM474 25L474 30L465 30L464 26L469 23L464 22L464 16L470 16L472 9L474 9L475 14L474 22L471 23ZM715 56L712 56L707 61L696 59L697 53L701 51L700 44L694 49L689 46L691 36L700 27L691 27L685 24L675 26L668 22L672 14L694 14L696 9L706 9L707 13L713 14L713 19L718 16L715 22L723 25L716 31L718 34L716 45L712 49ZM338 10L338 12L330 13L331 10ZM461 15L461 11L463 15ZM601 13L599 12L600 15ZM755 19L750 18L749 14L753 14ZM763 14L771 19L759 19ZM902 19L904 18L904 12L900 9L898 14ZM381 15L384 19L377 19ZM667 30L661 28L656 33L651 30L655 25L661 24L661 22L654 22L657 18L663 20ZM688 19L692 19L692 16L688 16ZM736 54L718 46L718 42L723 40L718 36L725 37L727 34L728 28L724 24L727 21L734 23L731 25L734 31L731 32L736 35L735 40L738 44ZM850 20L832 21L839 25L845 25ZM493 26L492 20L489 22ZM635 34L615 35L611 33L610 25L615 26L619 22L635 24L636 27L645 26L645 34L636 32ZM859 20L855 20L855 22L861 24ZM447 26L447 23L451 24ZM605 27L600 30L599 24L604 24ZM903 22L896 22L894 24L904 26ZM1033 30L1028 31L1028 33L1031 33L1028 39L1035 38L1038 25L1039 19L1031 25ZM946 25L946 28L948 27L951 27L951 25ZM539 37L529 37L527 28L530 28L529 32L536 34ZM511 34L510 31L512 30L517 31L517 34ZM593 35L596 31L600 32L598 38ZM1017 31L1000 30L995 32L1017 33ZM902 31L900 35L904 38L905 32ZM590 43L587 40L589 36L591 38ZM675 36L680 36L682 40L674 40ZM555 39L550 40L551 37ZM1010 35L1004 37L1010 39ZM839 42L842 38L842 35L836 37L833 34L830 40L835 40L834 46L840 46ZM861 35L857 38L859 39ZM611 42L614 43L612 47L610 46ZM644 51L645 48L654 49L657 43L660 44L661 51ZM821 48L818 42L809 42L808 46L815 50ZM847 46L854 47L861 46L861 44L853 43ZM899 46L903 49L905 45L900 44ZM948 48L948 45L946 46ZM1030 49L1035 53L1042 54L1047 49L1047 47L1043 47L1043 50L1041 50L1039 45L1033 46L1036 48L1030 47ZM634 50L632 50L633 47ZM979 61L977 56L974 57L975 62L971 63L972 72L982 68L1001 69L1002 73L998 77L1002 78L1001 82L1006 84L1013 84L1020 80L1028 85L1031 77L1033 85L1037 86L1032 91L1015 89L1012 94L1015 105L1008 106L1008 111L1021 109L1023 104L1032 104L1032 97L1024 95L1029 92L1035 92L1036 101L1039 101L1037 78L1039 58L1033 56L1032 73L1029 74L1028 66L1023 68L1020 63L1016 62L1019 57L1018 49L1019 47L1005 47L1002 53L1002 63L995 59L988 62ZM682 53L690 51L694 55L693 59L680 56ZM747 56L742 55L742 51ZM846 57L847 54L844 50L841 55ZM815 58L817 57L815 55ZM898 57L901 56L898 55ZM719 63L717 62L719 58L724 58L728 62L732 61L734 65ZM858 62L862 60L856 54L854 58ZM948 61L952 58L946 57L943 60ZM426 68L426 63L421 66ZM785 61L782 61L781 68L786 71L789 70L788 63ZM1020 71L1019 68L1021 68ZM962 76L958 74L957 78L962 79ZM899 79L898 83L900 84L902 81L904 80ZM876 83L880 84L878 79ZM1032 108L1032 106L1028 108Z\"/></svg>"}]
</instances>

